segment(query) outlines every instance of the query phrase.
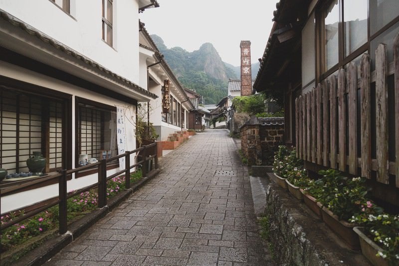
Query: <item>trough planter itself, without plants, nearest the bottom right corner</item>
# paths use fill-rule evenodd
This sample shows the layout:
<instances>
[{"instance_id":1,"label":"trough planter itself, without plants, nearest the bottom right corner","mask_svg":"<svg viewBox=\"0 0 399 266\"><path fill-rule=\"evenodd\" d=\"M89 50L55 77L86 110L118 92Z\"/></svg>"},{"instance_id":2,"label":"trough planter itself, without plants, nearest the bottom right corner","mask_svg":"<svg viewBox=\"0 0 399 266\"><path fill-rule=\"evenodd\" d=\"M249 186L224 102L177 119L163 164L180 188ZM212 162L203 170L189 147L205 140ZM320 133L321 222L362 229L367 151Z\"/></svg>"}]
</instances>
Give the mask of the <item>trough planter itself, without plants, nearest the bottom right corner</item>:
<instances>
[{"instance_id":1,"label":"trough planter itself, without plants, nearest the bottom right corner","mask_svg":"<svg viewBox=\"0 0 399 266\"><path fill-rule=\"evenodd\" d=\"M387 261L382 257L377 257L378 252L382 252L383 249L380 248L373 240L367 237L363 233L363 227L354 227L353 231L359 236L360 247L362 248L362 254L365 256L373 265L375 266L388 266Z\"/></svg>"}]
</instances>

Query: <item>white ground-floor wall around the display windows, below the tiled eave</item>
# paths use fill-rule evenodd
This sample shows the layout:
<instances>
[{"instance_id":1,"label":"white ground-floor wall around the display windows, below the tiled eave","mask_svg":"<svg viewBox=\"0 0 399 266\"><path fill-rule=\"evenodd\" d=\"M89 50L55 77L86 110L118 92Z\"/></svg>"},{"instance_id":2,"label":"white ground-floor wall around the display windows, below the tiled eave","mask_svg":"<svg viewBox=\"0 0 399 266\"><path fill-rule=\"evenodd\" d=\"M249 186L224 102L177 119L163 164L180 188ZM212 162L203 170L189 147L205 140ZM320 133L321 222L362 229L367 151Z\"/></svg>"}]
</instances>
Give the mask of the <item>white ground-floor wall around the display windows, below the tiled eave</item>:
<instances>
[{"instance_id":1,"label":"white ground-floor wall around the display windows, below the tiled eave","mask_svg":"<svg viewBox=\"0 0 399 266\"><path fill-rule=\"evenodd\" d=\"M55 89L62 91L64 93L69 93L74 96L87 98L92 101L96 101L99 103L104 103L112 106L123 106L127 108L127 114L132 119L135 118L136 107L129 105L125 102L115 100L113 98L106 97L104 95L95 93L93 91L88 91L84 88L77 87L66 82L50 78L48 76L38 74L36 72L21 68L19 66L15 66L9 64L7 62L0 61L0 73L1 75L14 78L17 80L21 80L24 82L28 82L31 84L43 86L50 89ZM74 97L72 101L72 168L75 168L75 147L76 147L76 139L75 139L75 108L74 108ZM136 139L134 137L134 124L126 122L126 139L127 139L127 150L131 151L136 148ZM134 158L133 155L130 159L133 164ZM108 175L118 172L119 168L108 171ZM82 188L97 182L97 175L90 175L86 177L81 177L78 179L72 179L68 181L67 190L76 190L78 188ZM30 190L28 192L17 193L5 197L1 197L1 213L6 213L27 205L31 205L36 202L40 202L46 200L48 198L54 197L58 195L58 185L51 185L43 188L38 188L34 190Z\"/></svg>"}]
</instances>

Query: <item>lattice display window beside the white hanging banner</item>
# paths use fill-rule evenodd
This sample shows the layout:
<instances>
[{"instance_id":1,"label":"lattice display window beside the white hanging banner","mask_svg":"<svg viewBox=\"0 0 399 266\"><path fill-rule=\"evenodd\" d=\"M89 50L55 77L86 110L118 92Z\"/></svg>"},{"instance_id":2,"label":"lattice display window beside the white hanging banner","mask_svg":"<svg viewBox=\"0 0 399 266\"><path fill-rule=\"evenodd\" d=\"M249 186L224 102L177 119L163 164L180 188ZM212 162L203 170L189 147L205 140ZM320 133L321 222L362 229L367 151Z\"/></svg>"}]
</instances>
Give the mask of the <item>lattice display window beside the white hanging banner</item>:
<instances>
[{"instance_id":1,"label":"lattice display window beside the white hanging banner","mask_svg":"<svg viewBox=\"0 0 399 266\"><path fill-rule=\"evenodd\" d=\"M116 108L101 103L76 98L78 135L76 166L80 155L103 159L118 154L116 132Z\"/></svg>"}]
</instances>

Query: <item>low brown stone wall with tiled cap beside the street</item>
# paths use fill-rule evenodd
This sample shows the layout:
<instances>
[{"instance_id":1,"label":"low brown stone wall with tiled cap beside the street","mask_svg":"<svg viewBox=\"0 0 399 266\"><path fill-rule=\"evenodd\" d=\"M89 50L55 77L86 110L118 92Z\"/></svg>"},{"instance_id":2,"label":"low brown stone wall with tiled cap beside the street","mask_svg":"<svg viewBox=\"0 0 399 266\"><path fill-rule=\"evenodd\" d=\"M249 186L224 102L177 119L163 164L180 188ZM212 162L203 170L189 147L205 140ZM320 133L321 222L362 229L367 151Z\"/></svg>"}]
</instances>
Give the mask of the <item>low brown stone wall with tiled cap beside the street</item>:
<instances>
[{"instance_id":1,"label":"low brown stone wall with tiled cap beside the street","mask_svg":"<svg viewBox=\"0 0 399 266\"><path fill-rule=\"evenodd\" d=\"M252 116L241 127L241 150L248 165L271 165L274 152L284 139L284 118Z\"/></svg>"}]
</instances>

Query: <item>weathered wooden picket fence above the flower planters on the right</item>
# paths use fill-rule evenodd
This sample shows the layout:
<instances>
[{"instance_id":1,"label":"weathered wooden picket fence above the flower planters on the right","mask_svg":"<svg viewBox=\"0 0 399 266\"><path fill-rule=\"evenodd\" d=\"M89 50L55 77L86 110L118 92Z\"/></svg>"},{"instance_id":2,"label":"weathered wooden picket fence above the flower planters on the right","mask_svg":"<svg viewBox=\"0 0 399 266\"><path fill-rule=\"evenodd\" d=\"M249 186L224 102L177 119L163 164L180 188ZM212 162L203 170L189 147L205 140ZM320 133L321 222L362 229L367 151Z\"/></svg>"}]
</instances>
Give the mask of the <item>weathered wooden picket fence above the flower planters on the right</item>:
<instances>
[{"instance_id":1,"label":"weathered wooden picket fence above the flower planters on the right","mask_svg":"<svg viewBox=\"0 0 399 266\"><path fill-rule=\"evenodd\" d=\"M363 54L295 99L297 156L399 188L399 34L392 63L385 44L375 53L375 71Z\"/></svg>"}]
</instances>

